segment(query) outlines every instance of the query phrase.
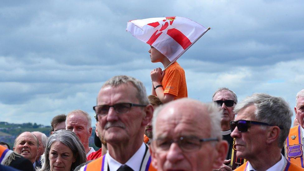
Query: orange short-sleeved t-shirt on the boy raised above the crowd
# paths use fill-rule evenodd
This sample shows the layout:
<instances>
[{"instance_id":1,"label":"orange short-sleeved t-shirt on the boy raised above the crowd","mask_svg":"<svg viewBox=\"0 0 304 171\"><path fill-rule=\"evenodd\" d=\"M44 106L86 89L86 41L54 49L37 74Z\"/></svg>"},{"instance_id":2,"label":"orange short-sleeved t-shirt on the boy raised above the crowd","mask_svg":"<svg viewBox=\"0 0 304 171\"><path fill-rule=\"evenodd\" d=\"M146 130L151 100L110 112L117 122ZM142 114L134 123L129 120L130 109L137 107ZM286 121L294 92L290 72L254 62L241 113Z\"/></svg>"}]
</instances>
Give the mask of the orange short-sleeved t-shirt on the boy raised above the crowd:
<instances>
[{"instance_id":1,"label":"orange short-sleeved t-shirt on the boy raised above the crowd","mask_svg":"<svg viewBox=\"0 0 304 171\"><path fill-rule=\"evenodd\" d=\"M174 100L188 97L185 71L177 62L174 62L165 70L165 75L161 83L164 88L164 93L174 95Z\"/></svg>"}]
</instances>

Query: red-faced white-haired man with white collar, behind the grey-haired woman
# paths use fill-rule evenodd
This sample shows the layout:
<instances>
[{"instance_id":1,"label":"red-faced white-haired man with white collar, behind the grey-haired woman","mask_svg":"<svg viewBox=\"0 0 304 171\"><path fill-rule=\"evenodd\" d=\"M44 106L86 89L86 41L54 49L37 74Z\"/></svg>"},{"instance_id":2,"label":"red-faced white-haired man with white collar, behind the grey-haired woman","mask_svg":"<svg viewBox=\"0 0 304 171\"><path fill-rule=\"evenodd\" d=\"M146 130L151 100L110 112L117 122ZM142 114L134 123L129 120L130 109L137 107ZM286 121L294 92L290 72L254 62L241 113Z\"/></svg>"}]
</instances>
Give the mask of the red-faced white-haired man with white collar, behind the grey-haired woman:
<instances>
[{"instance_id":1,"label":"red-faced white-haired man with white collar, behind the grey-haired woman","mask_svg":"<svg viewBox=\"0 0 304 171\"><path fill-rule=\"evenodd\" d=\"M74 110L68 113L65 125L66 129L73 131L81 141L86 156L95 152L93 147L89 147L89 138L92 135L92 119L91 116L83 110Z\"/></svg>"}]
</instances>

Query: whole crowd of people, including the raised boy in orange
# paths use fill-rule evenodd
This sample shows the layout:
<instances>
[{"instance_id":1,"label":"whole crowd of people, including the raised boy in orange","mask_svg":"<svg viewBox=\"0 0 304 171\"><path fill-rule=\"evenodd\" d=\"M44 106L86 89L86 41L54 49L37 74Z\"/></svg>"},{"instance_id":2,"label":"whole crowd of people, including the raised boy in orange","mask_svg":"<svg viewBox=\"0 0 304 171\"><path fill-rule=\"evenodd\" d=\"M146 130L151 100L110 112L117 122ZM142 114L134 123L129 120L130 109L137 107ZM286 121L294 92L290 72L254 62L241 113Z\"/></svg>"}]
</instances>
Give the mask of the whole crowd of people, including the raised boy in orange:
<instances>
[{"instance_id":1,"label":"whole crowd of people, including the raised boy in orange","mask_svg":"<svg viewBox=\"0 0 304 171\"><path fill-rule=\"evenodd\" d=\"M168 60L151 46L152 62ZM304 89L296 95L296 120L281 97L255 93L238 102L217 89L211 103L187 98L183 69L151 71L152 95L142 82L120 75L97 94L95 151L91 116L83 110L55 116L47 137L23 132L13 150L0 145L0 170L211 171L304 170Z\"/></svg>"}]
</instances>

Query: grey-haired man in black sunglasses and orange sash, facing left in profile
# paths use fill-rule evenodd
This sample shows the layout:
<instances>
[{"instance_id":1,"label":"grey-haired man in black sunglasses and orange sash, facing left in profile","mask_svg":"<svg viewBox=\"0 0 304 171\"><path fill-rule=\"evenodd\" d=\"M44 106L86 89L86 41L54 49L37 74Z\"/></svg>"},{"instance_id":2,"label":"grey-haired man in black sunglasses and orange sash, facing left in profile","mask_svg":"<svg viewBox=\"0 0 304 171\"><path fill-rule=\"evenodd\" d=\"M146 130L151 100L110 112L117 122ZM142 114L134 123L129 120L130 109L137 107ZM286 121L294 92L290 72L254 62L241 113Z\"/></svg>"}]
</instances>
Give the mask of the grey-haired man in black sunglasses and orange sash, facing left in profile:
<instances>
[{"instance_id":1,"label":"grey-haired man in black sunglasses and orange sash, facing left in profile","mask_svg":"<svg viewBox=\"0 0 304 171\"><path fill-rule=\"evenodd\" d=\"M292 116L283 98L253 94L237 104L234 111L238 114L235 121L230 122L230 127L236 155L248 160L236 171L304 170L281 154Z\"/></svg>"}]
</instances>

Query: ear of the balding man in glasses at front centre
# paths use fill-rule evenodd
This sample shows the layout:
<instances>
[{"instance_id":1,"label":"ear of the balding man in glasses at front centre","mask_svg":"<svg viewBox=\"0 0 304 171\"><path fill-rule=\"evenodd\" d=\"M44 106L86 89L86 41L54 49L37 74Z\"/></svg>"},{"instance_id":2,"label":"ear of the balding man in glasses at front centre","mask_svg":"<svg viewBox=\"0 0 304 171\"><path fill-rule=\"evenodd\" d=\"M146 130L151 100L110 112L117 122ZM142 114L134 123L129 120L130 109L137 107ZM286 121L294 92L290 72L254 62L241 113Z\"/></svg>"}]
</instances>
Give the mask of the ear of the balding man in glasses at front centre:
<instances>
[{"instance_id":1,"label":"ear of the balding man in glasses at front centre","mask_svg":"<svg viewBox=\"0 0 304 171\"><path fill-rule=\"evenodd\" d=\"M215 160L213 162L213 168L219 168L223 164L226 159L228 152L228 143L225 140L221 140L216 144L217 156L215 156Z\"/></svg>"}]
</instances>

